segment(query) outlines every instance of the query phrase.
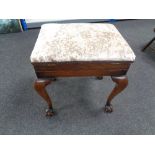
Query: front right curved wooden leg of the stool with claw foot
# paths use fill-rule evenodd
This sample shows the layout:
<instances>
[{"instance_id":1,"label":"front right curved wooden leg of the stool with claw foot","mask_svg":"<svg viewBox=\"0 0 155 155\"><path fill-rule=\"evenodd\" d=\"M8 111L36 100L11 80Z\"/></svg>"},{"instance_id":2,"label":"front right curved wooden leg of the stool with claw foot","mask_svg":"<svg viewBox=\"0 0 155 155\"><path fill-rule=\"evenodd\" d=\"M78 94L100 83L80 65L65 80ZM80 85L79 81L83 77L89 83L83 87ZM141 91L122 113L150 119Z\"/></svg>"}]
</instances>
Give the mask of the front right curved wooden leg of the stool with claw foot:
<instances>
[{"instance_id":1,"label":"front right curved wooden leg of the stool with claw foot","mask_svg":"<svg viewBox=\"0 0 155 155\"><path fill-rule=\"evenodd\" d=\"M111 94L109 95L108 99L107 99L107 103L105 105L104 111L107 113L111 113L113 112L113 108L111 105L111 101L112 99L119 94L120 92L122 92L128 85L128 78L126 76L119 76L119 77L111 77L113 82L116 83L114 89L112 90Z\"/></svg>"}]
</instances>

